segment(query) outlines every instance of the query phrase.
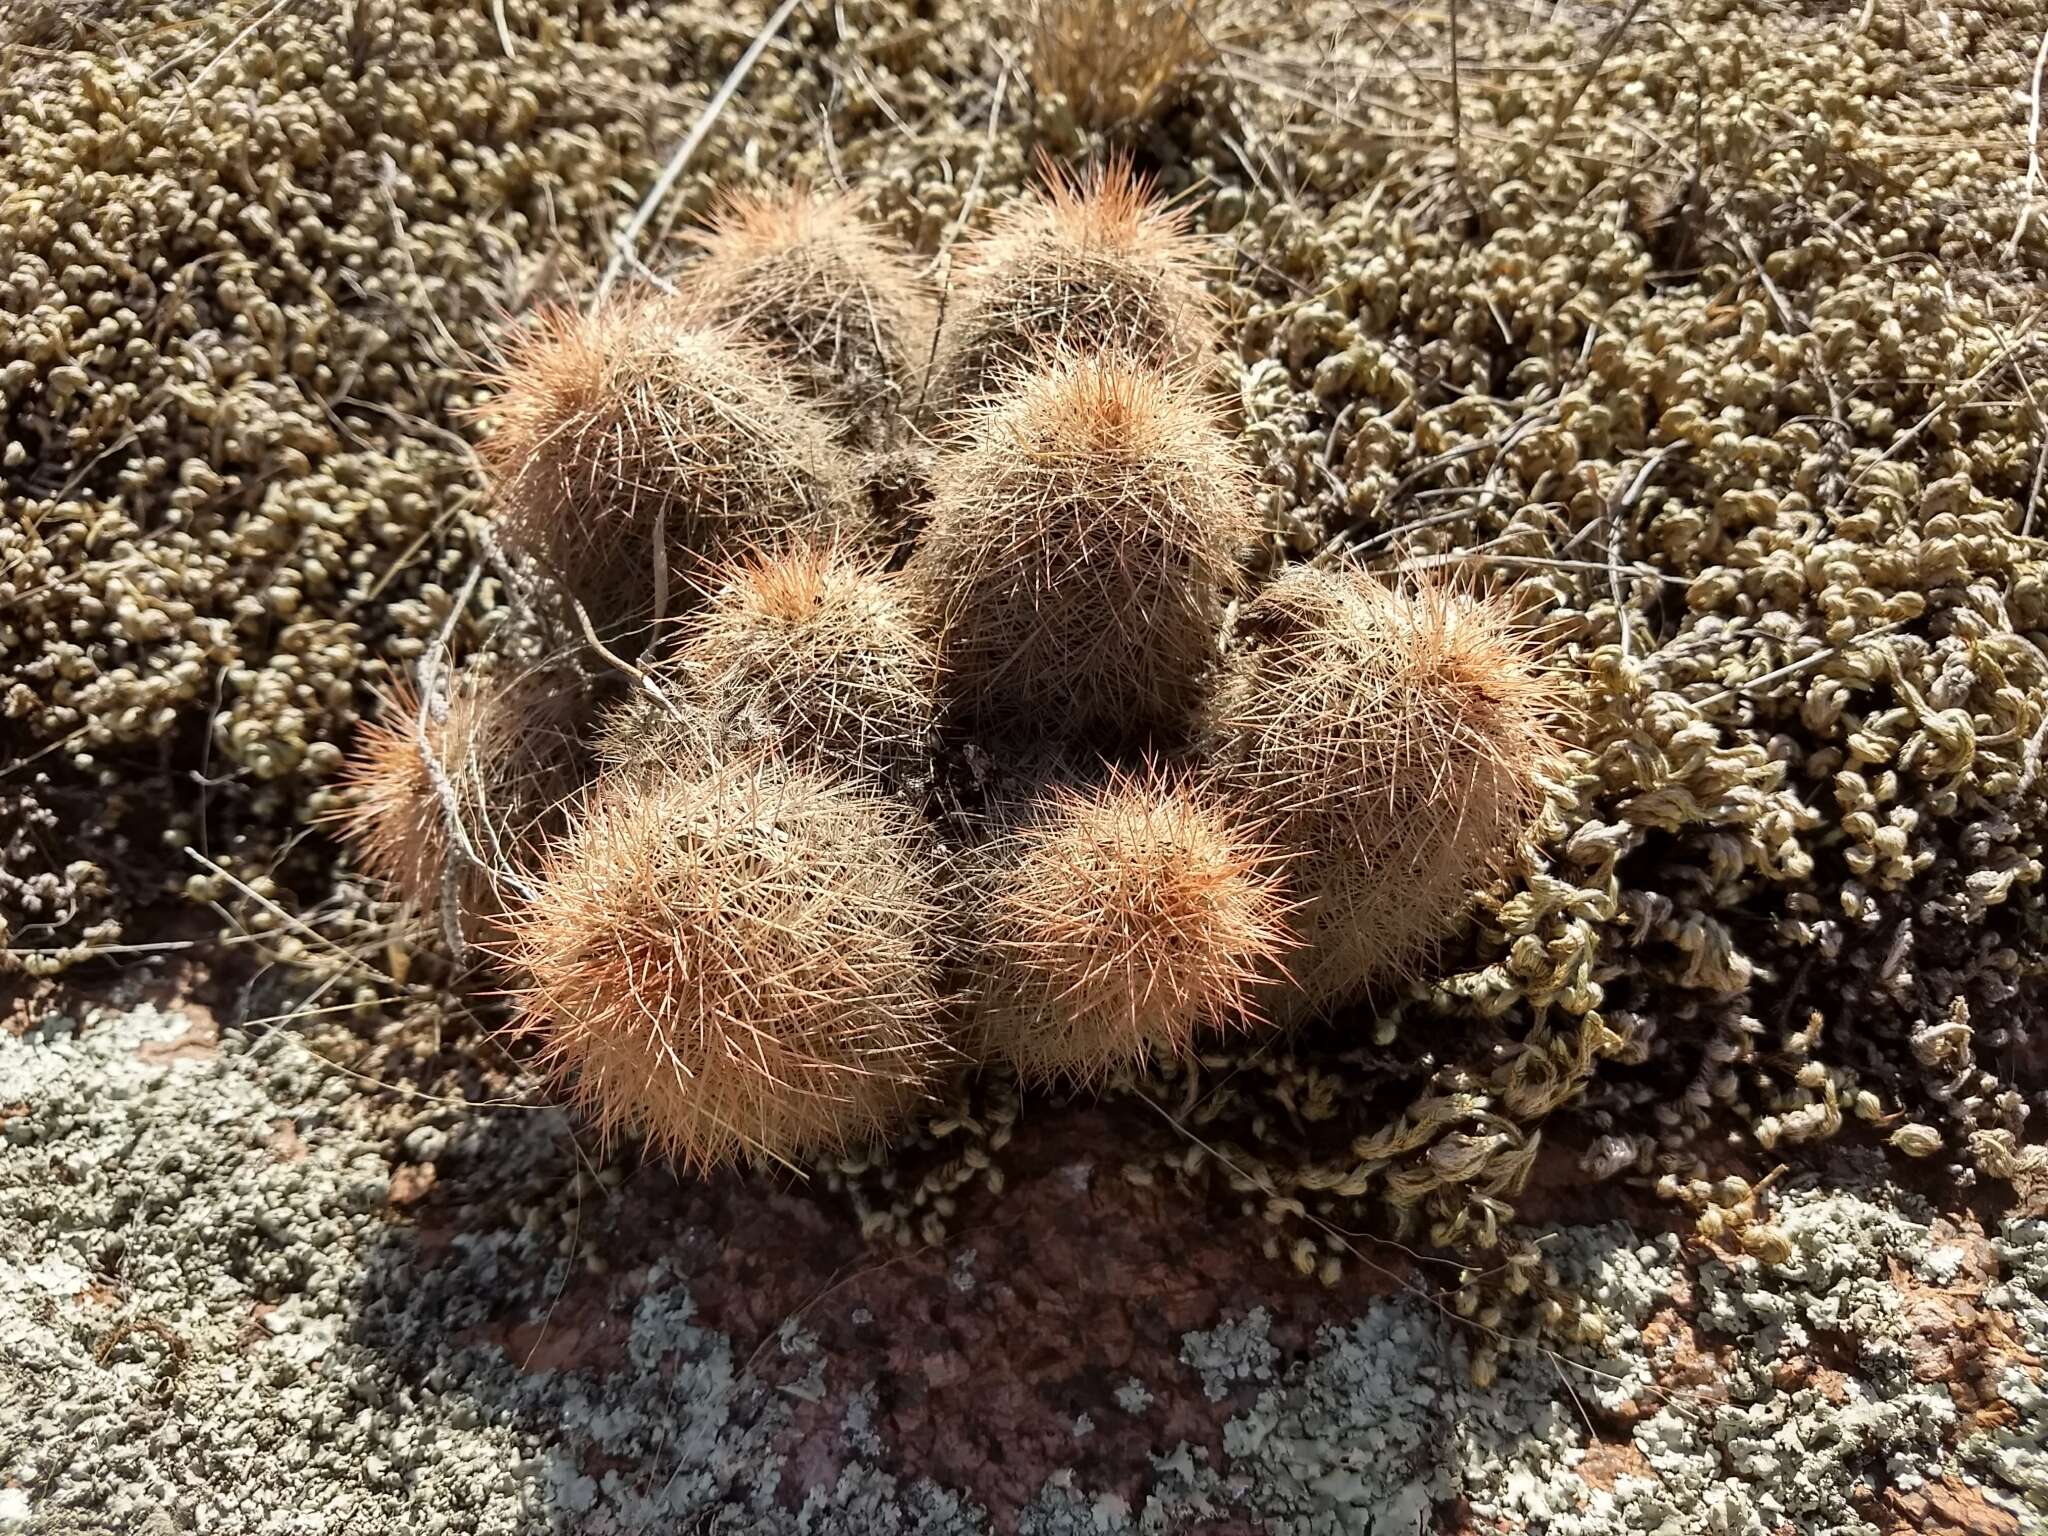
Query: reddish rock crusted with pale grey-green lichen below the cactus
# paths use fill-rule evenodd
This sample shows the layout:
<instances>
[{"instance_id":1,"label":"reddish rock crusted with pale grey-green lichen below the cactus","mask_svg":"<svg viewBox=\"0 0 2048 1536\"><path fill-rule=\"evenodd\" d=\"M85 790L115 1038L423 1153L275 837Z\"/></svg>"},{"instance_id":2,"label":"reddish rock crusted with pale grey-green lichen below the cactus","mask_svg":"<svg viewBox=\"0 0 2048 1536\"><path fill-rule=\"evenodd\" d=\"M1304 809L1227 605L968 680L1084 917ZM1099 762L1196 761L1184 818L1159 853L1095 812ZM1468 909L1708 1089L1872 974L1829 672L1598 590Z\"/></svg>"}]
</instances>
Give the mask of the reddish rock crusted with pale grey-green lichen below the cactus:
<instances>
[{"instance_id":1,"label":"reddish rock crusted with pale grey-green lichen below the cactus","mask_svg":"<svg viewBox=\"0 0 2048 1536\"><path fill-rule=\"evenodd\" d=\"M195 1001L0 1034L0 1530L2023 1532L2048 1225L1794 1190L1780 1270L1559 1227L1606 1337L1509 1356L1044 1112L1001 1212L596 1165Z\"/></svg>"}]
</instances>

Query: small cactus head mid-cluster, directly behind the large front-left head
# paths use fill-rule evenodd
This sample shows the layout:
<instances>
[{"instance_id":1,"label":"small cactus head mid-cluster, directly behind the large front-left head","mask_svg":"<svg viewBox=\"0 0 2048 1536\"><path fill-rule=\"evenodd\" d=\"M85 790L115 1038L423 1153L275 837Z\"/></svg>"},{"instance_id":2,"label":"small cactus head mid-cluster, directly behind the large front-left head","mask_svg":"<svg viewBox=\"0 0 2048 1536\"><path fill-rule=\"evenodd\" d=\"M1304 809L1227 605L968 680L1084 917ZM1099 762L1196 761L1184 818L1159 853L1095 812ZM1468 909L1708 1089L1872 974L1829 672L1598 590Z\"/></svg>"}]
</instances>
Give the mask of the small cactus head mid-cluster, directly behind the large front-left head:
<instances>
[{"instance_id":1,"label":"small cactus head mid-cluster, directly behind the large front-left head","mask_svg":"<svg viewBox=\"0 0 2048 1536\"><path fill-rule=\"evenodd\" d=\"M907 582L834 545L723 569L653 668L668 702L606 721L612 762L692 750L766 754L893 786L930 774L938 651Z\"/></svg>"}]
</instances>

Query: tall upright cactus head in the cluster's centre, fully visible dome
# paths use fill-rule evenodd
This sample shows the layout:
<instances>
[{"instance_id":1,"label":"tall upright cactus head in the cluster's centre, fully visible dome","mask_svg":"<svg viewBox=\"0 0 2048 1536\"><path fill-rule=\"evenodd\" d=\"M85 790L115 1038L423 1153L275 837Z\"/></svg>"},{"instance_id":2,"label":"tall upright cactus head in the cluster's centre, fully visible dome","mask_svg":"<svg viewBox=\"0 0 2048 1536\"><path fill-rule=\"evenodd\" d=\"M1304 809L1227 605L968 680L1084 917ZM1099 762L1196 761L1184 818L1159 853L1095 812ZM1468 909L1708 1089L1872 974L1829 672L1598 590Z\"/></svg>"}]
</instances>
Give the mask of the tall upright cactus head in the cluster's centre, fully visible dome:
<instances>
[{"instance_id":1,"label":"tall upright cactus head in the cluster's centre, fully visible dome","mask_svg":"<svg viewBox=\"0 0 2048 1536\"><path fill-rule=\"evenodd\" d=\"M940 463L913 561L954 713L1178 727L1255 532L1247 475L1186 377L1116 356L1022 375Z\"/></svg>"}]
</instances>

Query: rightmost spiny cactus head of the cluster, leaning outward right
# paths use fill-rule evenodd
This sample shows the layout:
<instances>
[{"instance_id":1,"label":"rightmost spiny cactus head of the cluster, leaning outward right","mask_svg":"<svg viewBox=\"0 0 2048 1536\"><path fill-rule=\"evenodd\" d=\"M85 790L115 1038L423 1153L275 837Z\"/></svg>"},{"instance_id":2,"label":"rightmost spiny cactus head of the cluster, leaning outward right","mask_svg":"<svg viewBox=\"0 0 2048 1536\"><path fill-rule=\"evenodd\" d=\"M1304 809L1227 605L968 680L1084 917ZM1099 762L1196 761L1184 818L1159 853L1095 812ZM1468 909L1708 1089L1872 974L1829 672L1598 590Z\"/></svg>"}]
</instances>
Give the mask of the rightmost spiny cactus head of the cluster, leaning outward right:
<instances>
[{"instance_id":1,"label":"rightmost spiny cactus head of the cluster, leaning outward right","mask_svg":"<svg viewBox=\"0 0 2048 1536\"><path fill-rule=\"evenodd\" d=\"M1298 565L1245 606L1206 707L1214 782L1294 864L1309 1006L1419 967L1511 856L1561 758L1507 608Z\"/></svg>"}]
</instances>

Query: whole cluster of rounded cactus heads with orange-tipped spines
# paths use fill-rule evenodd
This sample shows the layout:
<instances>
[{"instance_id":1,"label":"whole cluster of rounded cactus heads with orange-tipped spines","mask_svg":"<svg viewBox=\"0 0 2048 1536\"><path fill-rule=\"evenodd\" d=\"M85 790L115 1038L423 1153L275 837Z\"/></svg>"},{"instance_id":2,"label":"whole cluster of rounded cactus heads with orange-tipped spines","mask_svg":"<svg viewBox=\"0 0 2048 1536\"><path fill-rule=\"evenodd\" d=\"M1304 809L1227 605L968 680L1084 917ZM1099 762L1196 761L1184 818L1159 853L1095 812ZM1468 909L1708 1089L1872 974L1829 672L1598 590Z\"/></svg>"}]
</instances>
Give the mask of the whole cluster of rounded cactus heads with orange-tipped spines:
<instances>
[{"instance_id":1,"label":"whole cluster of rounded cactus heads with orange-tipped spines","mask_svg":"<svg viewBox=\"0 0 2048 1536\"><path fill-rule=\"evenodd\" d=\"M510 590L580 662L393 709L346 813L492 934L606 1133L788 1163L956 1065L1100 1085L1425 961L1538 807L1552 688L1473 592L1253 580L1174 211L1122 164L1055 178L936 336L844 199L731 203L702 244L674 295L537 322L485 408ZM926 356L905 553L854 487Z\"/></svg>"}]
</instances>

